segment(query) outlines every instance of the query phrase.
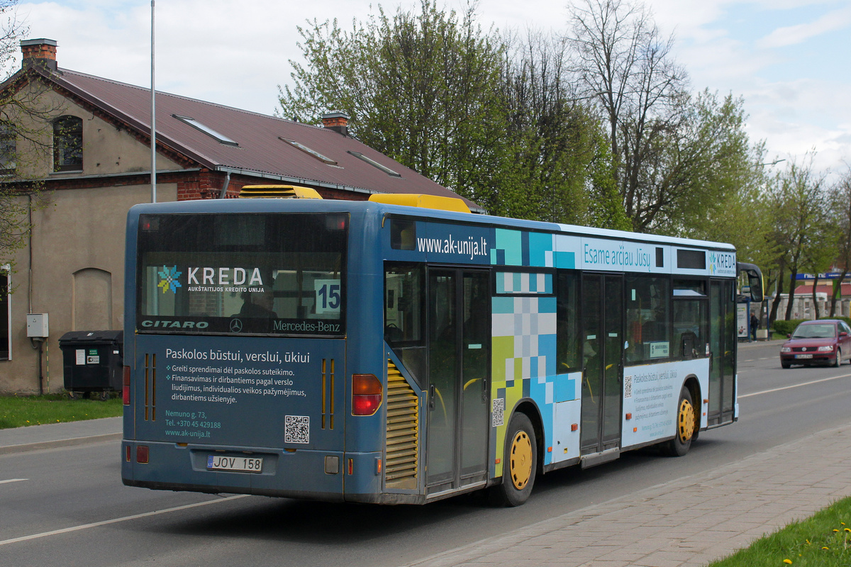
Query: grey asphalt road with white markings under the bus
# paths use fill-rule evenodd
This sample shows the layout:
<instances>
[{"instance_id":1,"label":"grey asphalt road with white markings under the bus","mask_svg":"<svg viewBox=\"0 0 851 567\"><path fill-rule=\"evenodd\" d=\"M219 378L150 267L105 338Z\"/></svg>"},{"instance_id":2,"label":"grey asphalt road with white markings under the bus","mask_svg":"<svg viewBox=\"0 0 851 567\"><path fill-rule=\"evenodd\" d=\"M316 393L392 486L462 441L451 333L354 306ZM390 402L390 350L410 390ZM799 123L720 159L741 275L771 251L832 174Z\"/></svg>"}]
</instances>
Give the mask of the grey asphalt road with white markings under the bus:
<instances>
[{"instance_id":1,"label":"grey asphalt road with white markings under the bus","mask_svg":"<svg viewBox=\"0 0 851 567\"><path fill-rule=\"evenodd\" d=\"M702 433L688 456L646 451L563 469L539 478L517 508L473 496L377 507L129 488L115 442L3 455L0 564L405 564L847 423L851 366L782 370L778 349L740 349L740 421Z\"/></svg>"}]
</instances>

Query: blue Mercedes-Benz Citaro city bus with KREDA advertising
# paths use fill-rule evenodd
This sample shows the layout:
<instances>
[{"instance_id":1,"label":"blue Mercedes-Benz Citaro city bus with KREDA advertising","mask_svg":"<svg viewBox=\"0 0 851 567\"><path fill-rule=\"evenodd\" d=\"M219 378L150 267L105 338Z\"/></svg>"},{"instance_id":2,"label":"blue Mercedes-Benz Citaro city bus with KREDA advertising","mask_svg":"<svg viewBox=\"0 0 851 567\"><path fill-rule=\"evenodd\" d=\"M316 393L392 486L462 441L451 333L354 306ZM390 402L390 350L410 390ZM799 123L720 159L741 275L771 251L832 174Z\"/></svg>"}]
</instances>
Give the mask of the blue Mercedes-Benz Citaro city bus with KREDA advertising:
<instances>
[{"instance_id":1,"label":"blue Mercedes-Benz Citaro city bus with KREDA advertising","mask_svg":"<svg viewBox=\"0 0 851 567\"><path fill-rule=\"evenodd\" d=\"M133 207L124 484L516 506L538 474L738 418L734 247L468 211Z\"/></svg>"}]
</instances>

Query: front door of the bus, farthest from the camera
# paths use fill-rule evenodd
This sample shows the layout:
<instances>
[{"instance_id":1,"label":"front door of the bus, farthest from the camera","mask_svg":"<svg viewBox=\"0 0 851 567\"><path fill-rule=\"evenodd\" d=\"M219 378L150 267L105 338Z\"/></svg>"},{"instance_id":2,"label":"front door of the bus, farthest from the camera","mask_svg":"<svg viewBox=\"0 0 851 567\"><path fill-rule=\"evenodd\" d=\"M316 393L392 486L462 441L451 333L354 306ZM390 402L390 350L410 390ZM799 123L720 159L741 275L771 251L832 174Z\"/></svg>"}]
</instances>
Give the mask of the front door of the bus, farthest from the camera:
<instances>
[{"instance_id":1,"label":"front door of the bus, farthest from the camera","mask_svg":"<svg viewBox=\"0 0 851 567\"><path fill-rule=\"evenodd\" d=\"M709 426L732 422L735 412L736 304L734 281L709 283Z\"/></svg>"}]
</instances>

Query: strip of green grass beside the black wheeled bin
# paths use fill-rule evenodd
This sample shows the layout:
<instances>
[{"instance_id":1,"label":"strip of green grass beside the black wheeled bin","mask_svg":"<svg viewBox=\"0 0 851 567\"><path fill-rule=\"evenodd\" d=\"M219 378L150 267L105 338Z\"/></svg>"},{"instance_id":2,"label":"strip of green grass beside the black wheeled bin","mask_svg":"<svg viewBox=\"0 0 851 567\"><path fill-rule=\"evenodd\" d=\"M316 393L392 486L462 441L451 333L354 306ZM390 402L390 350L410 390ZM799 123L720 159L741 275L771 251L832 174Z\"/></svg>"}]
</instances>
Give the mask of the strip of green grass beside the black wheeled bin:
<instances>
[{"instance_id":1,"label":"strip of green grass beside the black wheeled bin","mask_svg":"<svg viewBox=\"0 0 851 567\"><path fill-rule=\"evenodd\" d=\"M0 429L118 417L122 412L120 398L101 401L70 400L67 394L0 396Z\"/></svg>"}]
</instances>

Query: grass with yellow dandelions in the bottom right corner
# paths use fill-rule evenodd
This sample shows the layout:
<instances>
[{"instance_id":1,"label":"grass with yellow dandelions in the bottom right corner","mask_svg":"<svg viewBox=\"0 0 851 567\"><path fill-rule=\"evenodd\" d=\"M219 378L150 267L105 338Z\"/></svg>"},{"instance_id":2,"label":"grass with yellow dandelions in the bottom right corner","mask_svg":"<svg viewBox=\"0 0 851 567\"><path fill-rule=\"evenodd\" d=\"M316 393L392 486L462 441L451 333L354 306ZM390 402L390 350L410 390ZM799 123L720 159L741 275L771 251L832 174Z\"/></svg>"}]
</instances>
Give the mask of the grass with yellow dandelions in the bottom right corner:
<instances>
[{"instance_id":1,"label":"grass with yellow dandelions in the bottom right corner","mask_svg":"<svg viewBox=\"0 0 851 567\"><path fill-rule=\"evenodd\" d=\"M851 498L780 531L709 567L840 567L851 565Z\"/></svg>"}]
</instances>

